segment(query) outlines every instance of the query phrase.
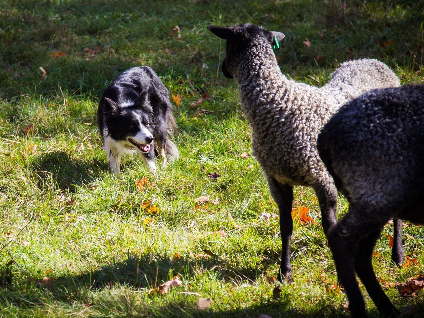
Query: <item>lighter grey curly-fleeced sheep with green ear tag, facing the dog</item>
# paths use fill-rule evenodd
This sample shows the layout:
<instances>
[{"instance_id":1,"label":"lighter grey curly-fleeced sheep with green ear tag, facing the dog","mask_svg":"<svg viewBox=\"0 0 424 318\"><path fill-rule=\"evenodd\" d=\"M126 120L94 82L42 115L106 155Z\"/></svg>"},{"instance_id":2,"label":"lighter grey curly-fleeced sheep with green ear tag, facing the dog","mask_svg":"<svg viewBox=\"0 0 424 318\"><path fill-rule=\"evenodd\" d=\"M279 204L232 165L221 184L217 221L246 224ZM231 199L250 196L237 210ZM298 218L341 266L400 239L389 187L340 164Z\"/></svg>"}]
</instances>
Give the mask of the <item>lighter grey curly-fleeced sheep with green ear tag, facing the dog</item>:
<instances>
[{"instance_id":1,"label":"lighter grey curly-fleeced sheep with green ear tag, facing the dog","mask_svg":"<svg viewBox=\"0 0 424 318\"><path fill-rule=\"evenodd\" d=\"M318 132L340 106L370 89L399 86L383 63L363 59L343 63L322 88L288 80L277 64L273 45L284 34L244 23L208 26L226 40L222 72L234 78L252 132L253 155L261 165L279 208L282 262L279 280L291 280L290 238L293 186L312 187L327 233L336 223L337 190L318 157Z\"/></svg>"}]
</instances>

